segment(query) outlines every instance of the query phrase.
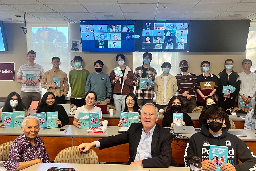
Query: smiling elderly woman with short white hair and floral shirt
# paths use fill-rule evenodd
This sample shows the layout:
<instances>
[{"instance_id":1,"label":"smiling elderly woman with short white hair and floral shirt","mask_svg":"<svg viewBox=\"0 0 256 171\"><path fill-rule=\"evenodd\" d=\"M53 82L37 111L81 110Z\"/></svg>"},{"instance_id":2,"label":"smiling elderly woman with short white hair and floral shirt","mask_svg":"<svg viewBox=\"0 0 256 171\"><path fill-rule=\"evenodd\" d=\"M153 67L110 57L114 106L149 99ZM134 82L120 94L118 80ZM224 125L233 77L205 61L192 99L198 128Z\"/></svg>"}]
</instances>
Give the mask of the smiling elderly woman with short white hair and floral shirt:
<instances>
[{"instance_id":1,"label":"smiling elderly woman with short white hair and floral shirt","mask_svg":"<svg viewBox=\"0 0 256 171\"><path fill-rule=\"evenodd\" d=\"M15 171L37 163L50 163L44 141L37 136L39 125L38 117L25 117L21 127L23 134L11 144L9 159L4 163L5 168Z\"/></svg>"}]
</instances>

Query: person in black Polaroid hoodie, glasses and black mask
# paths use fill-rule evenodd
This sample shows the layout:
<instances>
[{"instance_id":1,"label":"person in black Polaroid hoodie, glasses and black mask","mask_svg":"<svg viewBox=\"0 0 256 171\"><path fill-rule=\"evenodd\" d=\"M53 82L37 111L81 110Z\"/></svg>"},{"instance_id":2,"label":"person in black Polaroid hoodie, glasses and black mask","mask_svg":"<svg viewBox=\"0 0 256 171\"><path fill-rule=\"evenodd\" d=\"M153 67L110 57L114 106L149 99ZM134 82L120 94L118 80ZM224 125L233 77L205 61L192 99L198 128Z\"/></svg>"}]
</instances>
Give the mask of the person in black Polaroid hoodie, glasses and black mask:
<instances>
[{"instance_id":1,"label":"person in black Polaroid hoodie, glasses and black mask","mask_svg":"<svg viewBox=\"0 0 256 171\"><path fill-rule=\"evenodd\" d=\"M256 164L256 156L249 147L237 136L228 133L222 127L226 113L220 107L211 107L206 110L208 125L203 125L199 133L191 136L187 142L184 155L185 166L189 167L189 160L193 156L202 158L202 169L216 170L214 162L209 160L209 145L227 146L228 163L220 167L222 171L251 170ZM238 159L242 162L239 164Z\"/></svg>"}]
</instances>

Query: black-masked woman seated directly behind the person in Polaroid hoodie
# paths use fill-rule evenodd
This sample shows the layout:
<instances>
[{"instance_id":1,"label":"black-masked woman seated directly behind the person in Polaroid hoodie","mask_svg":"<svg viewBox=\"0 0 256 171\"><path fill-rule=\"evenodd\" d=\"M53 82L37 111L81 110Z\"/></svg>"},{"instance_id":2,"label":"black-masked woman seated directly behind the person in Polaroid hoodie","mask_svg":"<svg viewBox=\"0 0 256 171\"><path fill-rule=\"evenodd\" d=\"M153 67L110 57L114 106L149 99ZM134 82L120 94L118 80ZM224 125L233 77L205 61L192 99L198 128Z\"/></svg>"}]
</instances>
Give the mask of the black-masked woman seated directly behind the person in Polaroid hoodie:
<instances>
[{"instance_id":1,"label":"black-masked woman seated directly behind the person in Polaroid hoodie","mask_svg":"<svg viewBox=\"0 0 256 171\"><path fill-rule=\"evenodd\" d=\"M210 107L218 107L217 100L213 96L207 96L204 99L203 109L202 109L201 114L199 116L199 123L198 123L199 128L201 128L202 125L207 124L207 118L205 117L205 111L206 111L206 109L208 109ZM229 129L230 128L230 121L228 119L228 115L226 115L225 119L226 119L225 123L223 123L222 127L226 127L227 129Z\"/></svg>"}]
</instances>

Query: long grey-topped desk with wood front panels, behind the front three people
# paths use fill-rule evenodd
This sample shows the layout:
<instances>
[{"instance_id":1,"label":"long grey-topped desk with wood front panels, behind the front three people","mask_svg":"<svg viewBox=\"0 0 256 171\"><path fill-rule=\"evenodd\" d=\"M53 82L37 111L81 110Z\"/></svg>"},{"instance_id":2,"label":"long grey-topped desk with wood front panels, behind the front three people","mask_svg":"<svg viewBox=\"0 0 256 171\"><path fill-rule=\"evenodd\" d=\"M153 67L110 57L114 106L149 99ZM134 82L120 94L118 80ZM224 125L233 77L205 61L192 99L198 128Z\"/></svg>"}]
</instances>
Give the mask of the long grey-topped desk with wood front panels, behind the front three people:
<instances>
[{"instance_id":1,"label":"long grey-topped desk with wood front panels, behind the front three people","mask_svg":"<svg viewBox=\"0 0 256 171\"><path fill-rule=\"evenodd\" d=\"M107 137L111 135L117 135L118 130L121 127L108 126L108 130L104 134L92 134L87 133L87 129L79 129L76 126L66 125L62 128L67 129L66 133L57 133L60 128L52 128L40 130L38 136L44 140L46 150L49 153L50 160L53 161L57 154L64 148L70 146L78 146L82 143L89 143L101 139L102 137ZM237 130L237 129L236 129ZM238 131L238 130L237 130ZM239 137L241 140L245 141L248 147L256 154L256 130L239 130L247 134L247 137ZM0 129L0 144L7 141L13 141L16 137L22 134L19 127L16 128L1 128ZM183 134L188 138L191 134ZM183 141L184 146L178 146L177 143L181 144ZM183 140L174 139L172 142L172 156L177 161L178 164L184 164L183 156L185 154L187 138ZM128 162L129 158L129 146L127 144L122 144L119 146L106 148L104 150L99 150L98 148L93 148L98 155L99 162Z\"/></svg>"}]
</instances>

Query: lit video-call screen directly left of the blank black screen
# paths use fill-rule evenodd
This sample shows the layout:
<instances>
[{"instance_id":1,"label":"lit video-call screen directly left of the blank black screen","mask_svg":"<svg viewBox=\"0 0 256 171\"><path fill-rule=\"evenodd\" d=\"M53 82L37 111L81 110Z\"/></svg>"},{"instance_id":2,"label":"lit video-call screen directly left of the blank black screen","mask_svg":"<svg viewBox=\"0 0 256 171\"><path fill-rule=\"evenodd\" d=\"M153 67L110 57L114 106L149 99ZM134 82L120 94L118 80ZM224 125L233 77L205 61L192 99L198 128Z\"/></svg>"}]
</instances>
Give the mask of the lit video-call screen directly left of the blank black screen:
<instances>
[{"instance_id":1,"label":"lit video-call screen directly left of the blank black screen","mask_svg":"<svg viewBox=\"0 0 256 171\"><path fill-rule=\"evenodd\" d=\"M189 20L135 21L135 52L188 52Z\"/></svg>"}]
</instances>

